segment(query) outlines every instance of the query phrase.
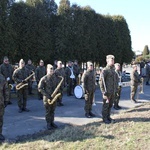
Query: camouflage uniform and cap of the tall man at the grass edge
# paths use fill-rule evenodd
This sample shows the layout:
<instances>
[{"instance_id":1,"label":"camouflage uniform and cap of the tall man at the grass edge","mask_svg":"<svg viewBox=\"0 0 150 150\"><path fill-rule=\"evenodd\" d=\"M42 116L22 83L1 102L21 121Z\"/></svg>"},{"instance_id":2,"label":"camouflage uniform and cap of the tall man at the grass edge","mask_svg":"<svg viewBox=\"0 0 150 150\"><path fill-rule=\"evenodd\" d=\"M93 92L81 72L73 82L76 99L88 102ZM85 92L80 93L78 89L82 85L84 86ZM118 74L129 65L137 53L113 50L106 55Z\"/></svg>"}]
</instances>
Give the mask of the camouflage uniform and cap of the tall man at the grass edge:
<instances>
[{"instance_id":1,"label":"camouflage uniform and cap of the tall man at the grass edge","mask_svg":"<svg viewBox=\"0 0 150 150\"><path fill-rule=\"evenodd\" d=\"M107 59L114 59L113 55L108 55ZM102 117L105 123L110 123L111 108L117 91L117 79L114 65L106 65L100 76L100 89L103 94ZM106 89L105 89L106 88Z\"/></svg>"}]
</instances>

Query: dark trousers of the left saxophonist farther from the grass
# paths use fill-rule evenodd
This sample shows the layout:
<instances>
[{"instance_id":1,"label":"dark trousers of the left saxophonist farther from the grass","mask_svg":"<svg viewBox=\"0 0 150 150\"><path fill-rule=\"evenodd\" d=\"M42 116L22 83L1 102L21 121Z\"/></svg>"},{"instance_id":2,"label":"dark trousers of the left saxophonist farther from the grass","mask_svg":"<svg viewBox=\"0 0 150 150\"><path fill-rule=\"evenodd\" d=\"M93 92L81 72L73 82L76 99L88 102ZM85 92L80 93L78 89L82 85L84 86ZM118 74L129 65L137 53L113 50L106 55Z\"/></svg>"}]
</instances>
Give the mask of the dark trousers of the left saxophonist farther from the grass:
<instances>
[{"instance_id":1,"label":"dark trousers of the left saxophonist farther from the grass","mask_svg":"<svg viewBox=\"0 0 150 150\"><path fill-rule=\"evenodd\" d=\"M27 88L22 88L17 91L18 96L18 107L19 108L26 108L27 105Z\"/></svg>"}]
</instances>

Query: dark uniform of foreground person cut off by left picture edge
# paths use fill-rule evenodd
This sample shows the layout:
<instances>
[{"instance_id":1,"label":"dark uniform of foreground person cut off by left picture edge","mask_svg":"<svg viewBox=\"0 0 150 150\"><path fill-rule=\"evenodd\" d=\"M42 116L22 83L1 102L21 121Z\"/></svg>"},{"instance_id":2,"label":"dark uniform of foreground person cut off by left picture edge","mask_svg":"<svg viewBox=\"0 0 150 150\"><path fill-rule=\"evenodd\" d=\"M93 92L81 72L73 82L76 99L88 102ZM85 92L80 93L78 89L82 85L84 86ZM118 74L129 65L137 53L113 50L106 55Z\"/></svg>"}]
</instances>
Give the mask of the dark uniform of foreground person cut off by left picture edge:
<instances>
[{"instance_id":1,"label":"dark uniform of foreground person cut off by left picture edge","mask_svg":"<svg viewBox=\"0 0 150 150\"><path fill-rule=\"evenodd\" d=\"M4 107L9 102L9 87L3 75L0 74L0 141L5 140L2 135Z\"/></svg>"}]
</instances>

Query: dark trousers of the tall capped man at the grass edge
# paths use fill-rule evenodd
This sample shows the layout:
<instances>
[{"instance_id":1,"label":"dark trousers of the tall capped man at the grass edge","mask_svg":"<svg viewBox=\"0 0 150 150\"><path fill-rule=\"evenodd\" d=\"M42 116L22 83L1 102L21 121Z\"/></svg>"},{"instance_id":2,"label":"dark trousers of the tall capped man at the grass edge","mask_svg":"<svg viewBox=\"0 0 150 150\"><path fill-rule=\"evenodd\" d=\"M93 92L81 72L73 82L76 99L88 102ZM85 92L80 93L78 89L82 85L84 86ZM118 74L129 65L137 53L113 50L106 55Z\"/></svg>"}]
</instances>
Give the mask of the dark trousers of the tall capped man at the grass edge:
<instances>
[{"instance_id":1,"label":"dark trousers of the tall capped man at the grass edge","mask_svg":"<svg viewBox=\"0 0 150 150\"><path fill-rule=\"evenodd\" d=\"M111 108L114 102L115 94L108 94L108 100L103 99L103 106L102 106L102 117L103 120L107 120L110 118Z\"/></svg>"}]
</instances>

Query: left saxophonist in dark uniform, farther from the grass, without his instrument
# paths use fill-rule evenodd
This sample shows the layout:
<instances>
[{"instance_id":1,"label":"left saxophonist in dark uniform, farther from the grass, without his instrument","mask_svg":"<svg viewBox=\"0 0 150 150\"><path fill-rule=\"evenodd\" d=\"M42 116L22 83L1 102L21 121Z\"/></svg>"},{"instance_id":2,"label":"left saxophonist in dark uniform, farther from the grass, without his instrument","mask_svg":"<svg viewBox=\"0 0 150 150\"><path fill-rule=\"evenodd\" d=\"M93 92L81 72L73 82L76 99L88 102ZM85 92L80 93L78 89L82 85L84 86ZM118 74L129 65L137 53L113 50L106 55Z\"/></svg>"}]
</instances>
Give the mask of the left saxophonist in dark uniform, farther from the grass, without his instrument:
<instances>
[{"instance_id":1,"label":"left saxophonist in dark uniform, farther from the grass, without his instrument","mask_svg":"<svg viewBox=\"0 0 150 150\"><path fill-rule=\"evenodd\" d=\"M25 81L25 79L29 76L29 71L28 69L25 67L25 62L23 59L21 59L19 61L19 68L17 68L14 72L13 72L13 80L16 82L16 86L20 83L22 84L27 84L27 81ZM26 111L28 112L29 109L26 108L27 105L27 92L28 92L28 86L24 86L22 88L20 88L17 91L17 96L18 96L18 107L19 113L22 113L22 111Z\"/></svg>"}]
</instances>

